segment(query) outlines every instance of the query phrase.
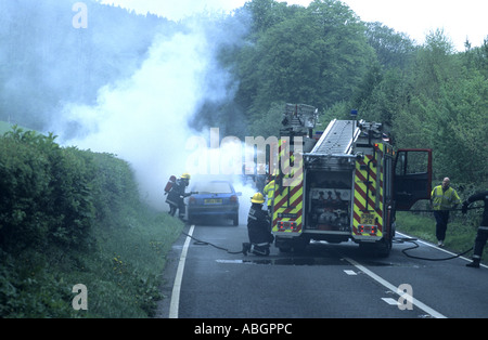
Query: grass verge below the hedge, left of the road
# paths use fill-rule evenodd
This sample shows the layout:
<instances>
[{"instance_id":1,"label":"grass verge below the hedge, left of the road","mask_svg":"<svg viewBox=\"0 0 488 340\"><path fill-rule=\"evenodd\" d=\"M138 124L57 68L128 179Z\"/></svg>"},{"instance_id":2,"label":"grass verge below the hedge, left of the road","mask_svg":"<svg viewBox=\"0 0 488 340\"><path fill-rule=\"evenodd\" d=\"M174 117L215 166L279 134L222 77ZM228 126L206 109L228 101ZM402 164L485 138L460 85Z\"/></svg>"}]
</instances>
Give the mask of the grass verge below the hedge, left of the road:
<instances>
[{"instance_id":1,"label":"grass verge below the hedge, left of the road","mask_svg":"<svg viewBox=\"0 0 488 340\"><path fill-rule=\"evenodd\" d=\"M50 247L2 253L2 317L144 318L156 312L165 257L182 223L167 213L121 215L125 225L94 228L87 251ZM75 311L73 287L87 287L88 310Z\"/></svg>"}]
</instances>

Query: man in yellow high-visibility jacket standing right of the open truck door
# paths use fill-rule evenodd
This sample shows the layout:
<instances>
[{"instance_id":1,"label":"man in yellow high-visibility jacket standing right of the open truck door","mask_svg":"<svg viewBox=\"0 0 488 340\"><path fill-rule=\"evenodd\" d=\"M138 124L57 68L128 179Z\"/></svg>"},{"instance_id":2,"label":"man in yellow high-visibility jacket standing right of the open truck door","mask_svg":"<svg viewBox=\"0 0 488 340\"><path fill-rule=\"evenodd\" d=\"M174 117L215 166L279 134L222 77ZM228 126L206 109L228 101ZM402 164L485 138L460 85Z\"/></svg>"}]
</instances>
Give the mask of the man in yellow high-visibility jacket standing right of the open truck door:
<instances>
[{"instance_id":1,"label":"man in yellow high-visibility jacket standing right of the open truck door","mask_svg":"<svg viewBox=\"0 0 488 340\"><path fill-rule=\"evenodd\" d=\"M441 185L437 185L432 191L431 206L434 210L434 218L436 219L436 237L437 246L444 247L444 239L446 238L447 224L449 221L449 210L455 209L461 204L455 189L450 187L449 178L445 178Z\"/></svg>"}]
</instances>

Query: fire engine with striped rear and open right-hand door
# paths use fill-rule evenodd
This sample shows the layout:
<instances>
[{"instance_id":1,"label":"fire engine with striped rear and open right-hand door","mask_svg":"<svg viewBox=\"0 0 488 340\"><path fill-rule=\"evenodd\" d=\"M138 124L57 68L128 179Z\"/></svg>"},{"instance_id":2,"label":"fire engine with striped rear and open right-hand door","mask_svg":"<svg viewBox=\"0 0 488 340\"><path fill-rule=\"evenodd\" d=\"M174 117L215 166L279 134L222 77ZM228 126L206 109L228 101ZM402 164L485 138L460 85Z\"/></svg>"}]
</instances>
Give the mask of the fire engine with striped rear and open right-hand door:
<instances>
[{"instance_id":1,"label":"fire engine with striped rear and open right-hand door","mask_svg":"<svg viewBox=\"0 0 488 340\"><path fill-rule=\"evenodd\" d=\"M271 205L280 251L352 240L388 257L396 212L431 198L432 149L396 149L384 123L356 113L313 133L317 108L285 105Z\"/></svg>"}]
</instances>

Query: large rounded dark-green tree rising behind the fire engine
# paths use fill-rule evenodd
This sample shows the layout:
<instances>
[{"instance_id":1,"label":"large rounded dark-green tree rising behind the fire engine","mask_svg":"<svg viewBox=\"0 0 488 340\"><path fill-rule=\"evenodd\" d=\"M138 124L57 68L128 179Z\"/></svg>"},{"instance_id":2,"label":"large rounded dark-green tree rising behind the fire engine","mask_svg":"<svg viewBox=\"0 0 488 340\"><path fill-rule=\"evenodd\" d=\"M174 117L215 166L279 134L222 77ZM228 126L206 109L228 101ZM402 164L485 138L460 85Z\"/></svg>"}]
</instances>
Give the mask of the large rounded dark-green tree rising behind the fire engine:
<instances>
[{"instance_id":1,"label":"large rounded dark-green tree rising behind the fire engine","mask_svg":"<svg viewBox=\"0 0 488 340\"><path fill-rule=\"evenodd\" d=\"M272 2L248 4L256 19L273 19L257 23L249 38L255 42L236 55L236 102L245 103L249 118L264 115L275 102L326 107L351 95L373 56L354 12L331 0L294 12Z\"/></svg>"}]
</instances>

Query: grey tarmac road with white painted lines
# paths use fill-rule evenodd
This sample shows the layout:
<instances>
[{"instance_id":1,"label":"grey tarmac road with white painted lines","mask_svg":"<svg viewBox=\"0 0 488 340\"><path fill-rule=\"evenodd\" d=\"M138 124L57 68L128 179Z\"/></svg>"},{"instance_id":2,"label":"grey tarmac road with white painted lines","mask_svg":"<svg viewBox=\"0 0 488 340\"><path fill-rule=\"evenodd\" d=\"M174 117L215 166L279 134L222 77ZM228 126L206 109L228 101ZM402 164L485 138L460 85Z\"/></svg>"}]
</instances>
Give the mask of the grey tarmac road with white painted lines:
<instances>
[{"instance_id":1,"label":"grey tarmac road with white painted lines","mask_svg":"<svg viewBox=\"0 0 488 340\"><path fill-rule=\"evenodd\" d=\"M185 227L193 237L239 251L247 228L218 221ZM178 318L424 318L488 316L488 270L467 259L424 261L395 244L386 259L354 243L311 243L303 253L231 254L181 235L167 257L167 297L159 317ZM416 257L446 258L420 243ZM403 286L401 286L403 285ZM400 287L401 286L401 287ZM399 290L398 287L401 289ZM411 297L411 298L410 298Z\"/></svg>"}]
</instances>

